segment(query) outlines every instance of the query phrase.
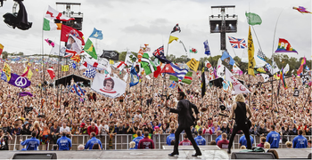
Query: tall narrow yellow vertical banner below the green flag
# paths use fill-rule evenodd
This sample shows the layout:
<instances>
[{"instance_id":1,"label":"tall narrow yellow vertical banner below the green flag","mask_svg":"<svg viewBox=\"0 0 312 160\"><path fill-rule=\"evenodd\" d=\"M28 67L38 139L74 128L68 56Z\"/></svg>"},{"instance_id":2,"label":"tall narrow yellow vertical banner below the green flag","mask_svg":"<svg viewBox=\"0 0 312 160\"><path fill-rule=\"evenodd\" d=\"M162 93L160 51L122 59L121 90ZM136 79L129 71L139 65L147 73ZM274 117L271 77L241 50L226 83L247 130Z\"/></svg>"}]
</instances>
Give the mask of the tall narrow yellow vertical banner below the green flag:
<instances>
[{"instance_id":1,"label":"tall narrow yellow vertical banner below the green flag","mask_svg":"<svg viewBox=\"0 0 312 160\"><path fill-rule=\"evenodd\" d=\"M256 61L254 57L255 48L253 46L251 30L249 30L248 34L248 75L255 76L253 68L256 66Z\"/></svg>"}]
</instances>

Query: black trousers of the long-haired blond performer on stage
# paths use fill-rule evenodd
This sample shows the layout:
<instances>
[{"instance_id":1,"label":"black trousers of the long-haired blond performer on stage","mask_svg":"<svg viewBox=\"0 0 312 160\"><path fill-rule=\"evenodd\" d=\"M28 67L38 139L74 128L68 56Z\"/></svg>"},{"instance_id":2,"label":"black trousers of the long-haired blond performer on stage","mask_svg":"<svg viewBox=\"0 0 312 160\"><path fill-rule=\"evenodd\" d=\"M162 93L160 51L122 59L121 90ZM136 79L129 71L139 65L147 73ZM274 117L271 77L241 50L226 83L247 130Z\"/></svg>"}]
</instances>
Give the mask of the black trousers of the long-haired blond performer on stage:
<instances>
[{"instance_id":1,"label":"black trousers of the long-haired blond performer on stage","mask_svg":"<svg viewBox=\"0 0 312 160\"><path fill-rule=\"evenodd\" d=\"M228 149L232 148L233 140L234 140L234 137L236 135L236 132L238 132L240 130L242 130L242 132L245 134L245 138L247 140L247 147L246 148L251 149L250 131L249 131L247 124L244 124L244 123L242 123L240 125L234 124L234 128L233 128L233 132L232 132L232 135L230 138L230 142L228 143Z\"/></svg>"}]
</instances>

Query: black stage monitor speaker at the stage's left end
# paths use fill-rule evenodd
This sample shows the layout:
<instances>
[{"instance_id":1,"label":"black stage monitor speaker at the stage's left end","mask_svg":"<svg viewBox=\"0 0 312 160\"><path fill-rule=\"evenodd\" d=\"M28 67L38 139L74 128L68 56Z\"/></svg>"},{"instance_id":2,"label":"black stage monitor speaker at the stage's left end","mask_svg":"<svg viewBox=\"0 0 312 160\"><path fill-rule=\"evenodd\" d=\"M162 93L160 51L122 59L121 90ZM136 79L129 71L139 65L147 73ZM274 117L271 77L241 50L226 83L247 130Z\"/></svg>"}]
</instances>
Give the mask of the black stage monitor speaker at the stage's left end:
<instances>
[{"instance_id":1,"label":"black stage monitor speaker at the stage's left end","mask_svg":"<svg viewBox=\"0 0 312 160\"><path fill-rule=\"evenodd\" d=\"M12 159L57 159L56 153L17 153Z\"/></svg>"}]
</instances>

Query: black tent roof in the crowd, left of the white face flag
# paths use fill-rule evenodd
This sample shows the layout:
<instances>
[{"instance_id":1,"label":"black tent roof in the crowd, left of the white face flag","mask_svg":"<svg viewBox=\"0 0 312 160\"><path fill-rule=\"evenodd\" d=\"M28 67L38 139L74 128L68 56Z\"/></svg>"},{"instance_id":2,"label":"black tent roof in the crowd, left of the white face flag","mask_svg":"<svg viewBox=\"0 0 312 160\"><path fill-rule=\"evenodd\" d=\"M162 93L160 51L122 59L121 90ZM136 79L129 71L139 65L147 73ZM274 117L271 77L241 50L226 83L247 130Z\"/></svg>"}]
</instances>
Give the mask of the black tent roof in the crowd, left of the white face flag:
<instances>
[{"instance_id":1,"label":"black tent roof in the crowd, left of the white face flag","mask_svg":"<svg viewBox=\"0 0 312 160\"><path fill-rule=\"evenodd\" d=\"M85 87L91 86L91 80L90 79L86 79L83 76L77 76L74 74L72 74L70 76L63 76L62 78L55 80L55 86L57 86L59 84L63 84L64 86L70 85L70 81L72 78L74 78L75 83L82 82ZM78 84L80 84L80 83L78 83Z\"/></svg>"}]
</instances>

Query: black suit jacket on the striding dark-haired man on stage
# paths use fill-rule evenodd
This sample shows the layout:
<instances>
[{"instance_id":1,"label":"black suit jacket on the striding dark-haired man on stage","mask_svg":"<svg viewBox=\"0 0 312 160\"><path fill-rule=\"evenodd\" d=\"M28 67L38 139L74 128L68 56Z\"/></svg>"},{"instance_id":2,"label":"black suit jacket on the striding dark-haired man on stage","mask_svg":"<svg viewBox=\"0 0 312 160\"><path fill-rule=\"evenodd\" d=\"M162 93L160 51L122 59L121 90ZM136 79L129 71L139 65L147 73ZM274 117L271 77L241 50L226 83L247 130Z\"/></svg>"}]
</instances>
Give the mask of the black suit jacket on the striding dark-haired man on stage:
<instances>
[{"instance_id":1,"label":"black suit jacket on the striding dark-haired man on stage","mask_svg":"<svg viewBox=\"0 0 312 160\"><path fill-rule=\"evenodd\" d=\"M194 124L195 118L193 117L192 108L194 109L195 114L197 115L199 113L197 107L189 100L184 99L180 100L177 103L177 108L170 108L170 112L177 113L179 126L186 128Z\"/></svg>"}]
</instances>

